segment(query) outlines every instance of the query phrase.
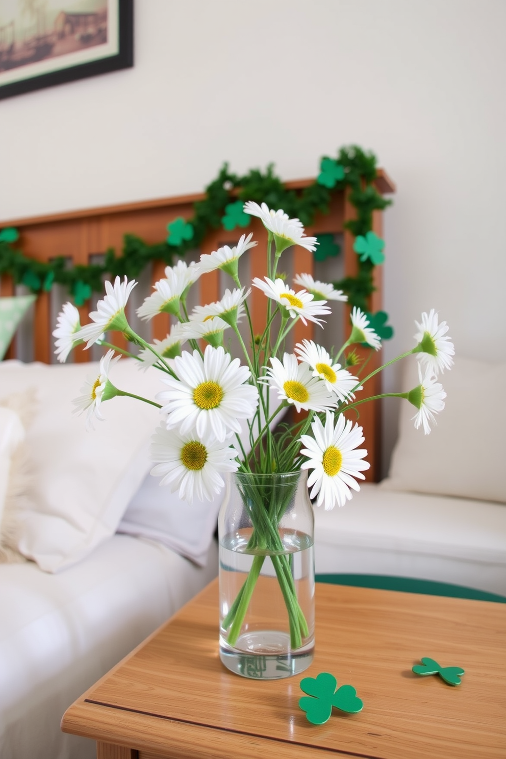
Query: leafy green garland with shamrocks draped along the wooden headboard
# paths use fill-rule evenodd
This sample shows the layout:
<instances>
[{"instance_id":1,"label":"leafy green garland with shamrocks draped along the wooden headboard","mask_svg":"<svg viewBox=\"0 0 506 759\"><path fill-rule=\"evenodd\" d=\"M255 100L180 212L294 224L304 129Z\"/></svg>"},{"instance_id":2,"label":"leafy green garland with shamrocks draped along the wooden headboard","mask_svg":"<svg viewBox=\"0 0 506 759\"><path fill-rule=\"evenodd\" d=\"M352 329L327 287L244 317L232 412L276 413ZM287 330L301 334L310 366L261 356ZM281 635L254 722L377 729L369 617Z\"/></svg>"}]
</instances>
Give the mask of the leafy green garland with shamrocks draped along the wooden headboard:
<instances>
[{"instance_id":1,"label":"leafy green garland with shamrocks draped along the wooden headboard","mask_svg":"<svg viewBox=\"0 0 506 759\"><path fill-rule=\"evenodd\" d=\"M0 274L9 274L15 284L26 285L33 292L49 291L54 283L64 285L71 292L74 302L82 305L92 292L101 292L104 276L126 275L135 279L151 260L162 260L171 266L174 257L184 256L187 250L200 245L209 229L237 226L245 228L250 216L243 212L246 200L265 202L269 208L282 208L288 216L296 216L304 226L313 224L316 213L328 213L332 194L350 187L350 203L357 210L357 218L345 226L354 235L354 250L359 256L356 277L346 277L335 282L336 288L344 290L352 306L367 308L367 299L374 291L372 270L384 260L383 241L372 231L372 212L390 205L372 184L376 178L376 156L365 153L358 146L341 148L337 159L324 156L320 173L313 184L297 192L284 187L275 176L270 164L265 173L252 169L249 174L238 176L228 170L225 163L218 176L206 187L206 198L193 204L191 219L174 219L168 224L168 238L155 245L147 245L135 235L124 235L123 253L116 257L109 248L102 264L67 268L67 260L57 257L49 263L24 256L13 247L19 239L14 228L0 231ZM231 193L237 200L231 202ZM333 235L319 235L316 260L339 253ZM385 326L386 314L369 314L383 339L391 337L391 327Z\"/></svg>"}]
</instances>

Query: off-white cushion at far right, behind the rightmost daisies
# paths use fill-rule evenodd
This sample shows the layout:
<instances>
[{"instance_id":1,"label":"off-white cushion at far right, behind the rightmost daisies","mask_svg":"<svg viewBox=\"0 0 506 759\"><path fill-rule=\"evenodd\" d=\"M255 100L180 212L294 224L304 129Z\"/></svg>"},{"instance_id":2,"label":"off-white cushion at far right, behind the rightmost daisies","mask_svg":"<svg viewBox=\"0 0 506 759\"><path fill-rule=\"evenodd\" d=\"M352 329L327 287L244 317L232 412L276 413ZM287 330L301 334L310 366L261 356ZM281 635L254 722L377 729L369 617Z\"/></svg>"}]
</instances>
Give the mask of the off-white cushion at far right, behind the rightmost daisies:
<instances>
[{"instance_id":1,"label":"off-white cushion at far right, behind the rightmost daisies","mask_svg":"<svg viewBox=\"0 0 506 759\"><path fill-rule=\"evenodd\" d=\"M416 408L402 403L398 442L381 487L506 503L506 364L457 355L438 381L447 397L430 435L415 430ZM403 390L418 384L413 359Z\"/></svg>"}]
</instances>

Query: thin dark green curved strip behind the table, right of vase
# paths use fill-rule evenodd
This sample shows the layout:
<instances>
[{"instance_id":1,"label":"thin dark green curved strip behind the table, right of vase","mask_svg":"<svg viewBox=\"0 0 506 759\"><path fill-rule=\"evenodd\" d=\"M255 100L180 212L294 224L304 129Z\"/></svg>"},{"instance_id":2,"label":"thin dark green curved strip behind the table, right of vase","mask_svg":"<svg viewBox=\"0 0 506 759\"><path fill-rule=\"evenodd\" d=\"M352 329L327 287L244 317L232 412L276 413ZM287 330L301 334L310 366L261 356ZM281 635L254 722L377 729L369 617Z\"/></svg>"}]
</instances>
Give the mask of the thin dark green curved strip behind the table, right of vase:
<instances>
[{"instance_id":1,"label":"thin dark green curved strip behind the table, right of vase","mask_svg":"<svg viewBox=\"0 0 506 759\"><path fill-rule=\"evenodd\" d=\"M447 582L415 580L409 577L388 577L386 575L316 575L315 580L316 582L326 582L333 585L376 587L382 591L401 591L403 593L421 593L427 596L470 598L475 601L506 603L506 597L498 596L495 593L475 591L472 587L451 585Z\"/></svg>"}]
</instances>

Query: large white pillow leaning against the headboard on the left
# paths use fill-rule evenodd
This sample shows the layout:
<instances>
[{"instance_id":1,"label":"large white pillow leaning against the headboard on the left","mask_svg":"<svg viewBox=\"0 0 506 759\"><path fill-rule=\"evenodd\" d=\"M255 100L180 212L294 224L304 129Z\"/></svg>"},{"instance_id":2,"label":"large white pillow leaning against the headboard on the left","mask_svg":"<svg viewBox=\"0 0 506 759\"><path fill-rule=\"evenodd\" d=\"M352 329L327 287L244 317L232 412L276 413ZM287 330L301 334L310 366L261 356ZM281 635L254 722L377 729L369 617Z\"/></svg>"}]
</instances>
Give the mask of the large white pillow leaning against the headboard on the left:
<instances>
[{"instance_id":1,"label":"large white pillow leaning against the headboard on the left","mask_svg":"<svg viewBox=\"0 0 506 759\"><path fill-rule=\"evenodd\" d=\"M136 364L118 361L112 383L152 399L163 387L160 374ZM115 533L150 466L143 450L159 424L157 408L113 398L102 404L105 421L97 420L91 432L85 417L73 414L72 400L98 366L0 364L0 396L37 389L39 408L26 437L33 488L20 509L17 549L46 572L74 564Z\"/></svg>"}]
</instances>

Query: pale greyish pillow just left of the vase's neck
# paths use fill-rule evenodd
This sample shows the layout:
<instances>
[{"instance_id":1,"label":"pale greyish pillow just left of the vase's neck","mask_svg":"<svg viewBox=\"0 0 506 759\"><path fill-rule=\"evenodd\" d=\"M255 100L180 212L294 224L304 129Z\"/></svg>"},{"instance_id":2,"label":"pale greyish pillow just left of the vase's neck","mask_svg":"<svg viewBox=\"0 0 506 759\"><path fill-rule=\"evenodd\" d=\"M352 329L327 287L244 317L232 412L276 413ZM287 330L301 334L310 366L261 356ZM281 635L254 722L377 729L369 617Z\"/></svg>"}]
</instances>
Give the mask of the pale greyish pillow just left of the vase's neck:
<instances>
[{"instance_id":1,"label":"pale greyish pillow just left of the vase's neck","mask_svg":"<svg viewBox=\"0 0 506 759\"><path fill-rule=\"evenodd\" d=\"M277 397L276 391L272 395L271 408ZM272 420L272 429L286 411L286 408L283 409ZM241 442L245 452L249 453L251 446L247 424L243 423L242 427ZM144 454L146 462L149 461L148 447L146 446ZM149 468L152 468L152 462ZM148 474L128 504L118 532L158 540L181 556L186 556L200 566L206 566L209 546L224 496L225 489L212 501L201 502L194 499L193 504L189 505L181 500L177 492L171 493L170 487L160 486L160 477Z\"/></svg>"}]
</instances>

